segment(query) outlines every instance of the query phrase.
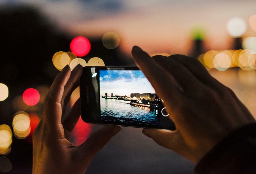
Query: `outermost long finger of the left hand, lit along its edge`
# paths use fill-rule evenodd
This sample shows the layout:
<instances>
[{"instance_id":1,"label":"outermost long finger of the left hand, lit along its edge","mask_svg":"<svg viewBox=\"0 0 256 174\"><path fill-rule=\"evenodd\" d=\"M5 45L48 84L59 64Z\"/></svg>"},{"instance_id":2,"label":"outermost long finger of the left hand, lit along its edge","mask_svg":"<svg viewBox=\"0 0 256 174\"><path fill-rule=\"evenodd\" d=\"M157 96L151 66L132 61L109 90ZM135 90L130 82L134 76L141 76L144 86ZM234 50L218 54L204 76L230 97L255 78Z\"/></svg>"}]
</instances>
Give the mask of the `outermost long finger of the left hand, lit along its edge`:
<instances>
[{"instance_id":1,"label":"outermost long finger of the left hand, lit along its edge","mask_svg":"<svg viewBox=\"0 0 256 174\"><path fill-rule=\"evenodd\" d=\"M50 124L57 124L61 121L61 99L70 73L69 66L65 66L54 79L45 97L43 119Z\"/></svg>"}]
</instances>

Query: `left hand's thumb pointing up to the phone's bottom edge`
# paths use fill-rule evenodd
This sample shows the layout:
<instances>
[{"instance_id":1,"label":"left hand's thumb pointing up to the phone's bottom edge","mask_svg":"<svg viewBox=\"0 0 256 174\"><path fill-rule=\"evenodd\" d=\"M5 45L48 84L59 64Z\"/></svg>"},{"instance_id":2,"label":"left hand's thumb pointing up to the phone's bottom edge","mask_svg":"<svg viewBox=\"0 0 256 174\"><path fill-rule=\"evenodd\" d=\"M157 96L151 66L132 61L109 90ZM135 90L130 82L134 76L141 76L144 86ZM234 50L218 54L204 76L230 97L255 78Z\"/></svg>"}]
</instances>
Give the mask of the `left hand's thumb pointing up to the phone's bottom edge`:
<instances>
[{"instance_id":1,"label":"left hand's thumb pointing up to the phone's bottom edge","mask_svg":"<svg viewBox=\"0 0 256 174\"><path fill-rule=\"evenodd\" d=\"M77 154L86 162L90 162L109 140L121 131L120 126L103 126L95 131L82 145L78 146Z\"/></svg>"}]
</instances>

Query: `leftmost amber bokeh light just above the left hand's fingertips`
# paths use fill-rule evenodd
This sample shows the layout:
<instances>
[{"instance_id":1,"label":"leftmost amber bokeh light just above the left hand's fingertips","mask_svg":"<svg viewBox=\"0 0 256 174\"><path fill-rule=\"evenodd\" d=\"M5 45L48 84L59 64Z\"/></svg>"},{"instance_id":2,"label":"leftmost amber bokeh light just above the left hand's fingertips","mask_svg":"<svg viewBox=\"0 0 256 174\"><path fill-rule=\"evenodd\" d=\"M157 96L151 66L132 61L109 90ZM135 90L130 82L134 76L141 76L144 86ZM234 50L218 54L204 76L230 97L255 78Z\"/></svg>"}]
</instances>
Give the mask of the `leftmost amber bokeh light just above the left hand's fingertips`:
<instances>
[{"instance_id":1,"label":"leftmost amber bokeh light just above the left hand's fingertips","mask_svg":"<svg viewBox=\"0 0 256 174\"><path fill-rule=\"evenodd\" d=\"M67 53L59 51L53 55L52 62L53 65L61 71L66 65L70 64L71 58Z\"/></svg>"}]
</instances>

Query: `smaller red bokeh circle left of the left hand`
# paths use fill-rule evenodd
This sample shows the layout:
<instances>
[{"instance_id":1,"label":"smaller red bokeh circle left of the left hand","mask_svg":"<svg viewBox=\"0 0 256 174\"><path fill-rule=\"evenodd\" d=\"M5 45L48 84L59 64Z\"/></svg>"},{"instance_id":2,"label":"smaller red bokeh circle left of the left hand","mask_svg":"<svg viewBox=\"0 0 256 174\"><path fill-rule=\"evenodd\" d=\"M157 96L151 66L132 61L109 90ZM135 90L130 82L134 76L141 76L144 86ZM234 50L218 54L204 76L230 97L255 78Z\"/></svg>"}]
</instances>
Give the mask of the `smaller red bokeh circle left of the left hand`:
<instances>
[{"instance_id":1,"label":"smaller red bokeh circle left of the left hand","mask_svg":"<svg viewBox=\"0 0 256 174\"><path fill-rule=\"evenodd\" d=\"M29 88L24 91L23 95L23 101L29 106L34 106L39 102L40 95L39 92L34 88Z\"/></svg>"}]
</instances>

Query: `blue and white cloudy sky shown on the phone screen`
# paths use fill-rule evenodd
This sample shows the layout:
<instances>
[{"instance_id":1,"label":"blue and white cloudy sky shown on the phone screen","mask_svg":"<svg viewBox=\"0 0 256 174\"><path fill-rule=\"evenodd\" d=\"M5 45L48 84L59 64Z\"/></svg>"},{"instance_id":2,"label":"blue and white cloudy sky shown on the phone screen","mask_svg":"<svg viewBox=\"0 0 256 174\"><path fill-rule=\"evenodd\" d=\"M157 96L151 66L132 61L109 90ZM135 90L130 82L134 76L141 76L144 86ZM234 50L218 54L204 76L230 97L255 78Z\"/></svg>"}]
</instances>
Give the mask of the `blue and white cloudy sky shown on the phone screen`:
<instances>
[{"instance_id":1,"label":"blue and white cloudy sky shown on the phone screen","mask_svg":"<svg viewBox=\"0 0 256 174\"><path fill-rule=\"evenodd\" d=\"M154 88L141 71L100 71L100 95L130 96L131 93L155 93Z\"/></svg>"}]
</instances>

